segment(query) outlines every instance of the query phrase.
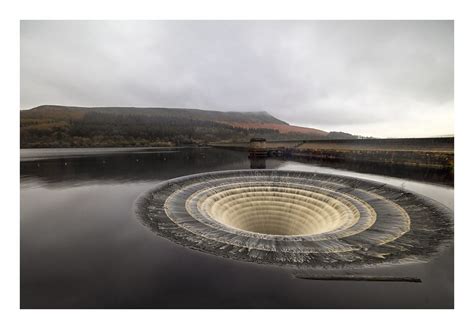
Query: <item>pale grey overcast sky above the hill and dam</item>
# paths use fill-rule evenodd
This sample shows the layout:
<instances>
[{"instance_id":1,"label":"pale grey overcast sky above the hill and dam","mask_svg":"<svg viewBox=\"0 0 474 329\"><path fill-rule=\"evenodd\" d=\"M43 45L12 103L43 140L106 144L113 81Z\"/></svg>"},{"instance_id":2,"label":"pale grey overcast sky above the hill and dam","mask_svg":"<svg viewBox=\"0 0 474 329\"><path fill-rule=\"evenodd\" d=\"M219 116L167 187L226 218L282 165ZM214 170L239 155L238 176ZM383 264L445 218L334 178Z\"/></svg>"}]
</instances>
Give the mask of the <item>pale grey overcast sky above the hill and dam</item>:
<instances>
[{"instance_id":1,"label":"pale grey overcast sky above the hill and dam","mask_svg":"<svg viewBox=\"0 0 474 329\"><path fill-rule=\"evenodd\" d=\"M452 21L23 21L21 109L265 110L377 137L454 132Z\"/></svg>"}]
</instances>

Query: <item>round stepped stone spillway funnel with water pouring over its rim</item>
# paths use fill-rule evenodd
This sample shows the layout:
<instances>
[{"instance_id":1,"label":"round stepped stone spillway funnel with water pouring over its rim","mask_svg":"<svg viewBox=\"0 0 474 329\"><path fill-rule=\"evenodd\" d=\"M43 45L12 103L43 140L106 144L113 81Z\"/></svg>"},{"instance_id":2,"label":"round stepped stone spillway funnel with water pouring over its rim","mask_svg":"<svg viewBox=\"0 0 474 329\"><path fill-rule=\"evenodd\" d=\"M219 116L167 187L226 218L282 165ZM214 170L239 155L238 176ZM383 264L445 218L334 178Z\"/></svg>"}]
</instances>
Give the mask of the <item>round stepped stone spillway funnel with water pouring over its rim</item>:
<instances>
[{"instance_id":1,"label":"round stepped stone spillway funnel with water pouring over its rim","mask_svg":"<svg viewBox=\"0 0 474 329\"><path fill-rule=\"evenodd\" d=\"M321 268L427 261L453 237L442 204L386 184L278 170L209 172L142 194L158 235L237 260Z\"/></svg>"}]
</instances>

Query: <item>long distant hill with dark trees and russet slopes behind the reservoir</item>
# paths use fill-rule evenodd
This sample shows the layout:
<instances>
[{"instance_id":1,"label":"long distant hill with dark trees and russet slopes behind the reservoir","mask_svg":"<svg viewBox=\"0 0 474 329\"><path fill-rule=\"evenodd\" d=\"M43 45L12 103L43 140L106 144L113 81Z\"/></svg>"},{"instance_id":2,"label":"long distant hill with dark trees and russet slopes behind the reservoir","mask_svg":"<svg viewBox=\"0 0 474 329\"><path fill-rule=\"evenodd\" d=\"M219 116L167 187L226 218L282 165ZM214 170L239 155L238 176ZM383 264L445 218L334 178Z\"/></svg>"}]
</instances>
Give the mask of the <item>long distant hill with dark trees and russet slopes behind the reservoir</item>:
<instances>
[{"instance_id":1,"label":"long distant hill with dark trees and russet slopes behind the reservoir","mask_svg":"<svg viewBox=\"0 0 474 329\"><path fill-rule=\"evenodd\" d=\"M252 137L338 138L339 134L292 126L265 111L56 105L20 111L22 148L161 146L242 142Z\"/></svg>"}]
</instances>

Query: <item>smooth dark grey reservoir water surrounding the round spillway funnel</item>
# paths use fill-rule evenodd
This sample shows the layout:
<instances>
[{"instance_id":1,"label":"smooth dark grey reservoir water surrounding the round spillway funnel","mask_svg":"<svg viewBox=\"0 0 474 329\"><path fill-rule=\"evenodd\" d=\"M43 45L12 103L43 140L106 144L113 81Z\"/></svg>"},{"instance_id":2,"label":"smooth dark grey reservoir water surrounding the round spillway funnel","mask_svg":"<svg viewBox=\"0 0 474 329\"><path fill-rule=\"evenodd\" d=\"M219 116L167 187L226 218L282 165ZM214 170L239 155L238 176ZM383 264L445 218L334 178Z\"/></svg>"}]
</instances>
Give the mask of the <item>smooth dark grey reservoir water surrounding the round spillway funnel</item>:
<instances>
[{"instance_id":1,"label":"smooth dark grey reservoir water surrounding the round spillway funnel","mask_svg":"<svg viewBox=\"0 0 474 329\"><path fill-rule=\"evenodd\" d=\"M284 160L265 166L369 178L453 206L449 186ZM22 151L21 307L453 307L453 248L428 264L356 272L422 283L312 281L186 249L132 217L135 198L162 180L249 167L246 153L215 149Z\"/></svg>"}]
</instances>

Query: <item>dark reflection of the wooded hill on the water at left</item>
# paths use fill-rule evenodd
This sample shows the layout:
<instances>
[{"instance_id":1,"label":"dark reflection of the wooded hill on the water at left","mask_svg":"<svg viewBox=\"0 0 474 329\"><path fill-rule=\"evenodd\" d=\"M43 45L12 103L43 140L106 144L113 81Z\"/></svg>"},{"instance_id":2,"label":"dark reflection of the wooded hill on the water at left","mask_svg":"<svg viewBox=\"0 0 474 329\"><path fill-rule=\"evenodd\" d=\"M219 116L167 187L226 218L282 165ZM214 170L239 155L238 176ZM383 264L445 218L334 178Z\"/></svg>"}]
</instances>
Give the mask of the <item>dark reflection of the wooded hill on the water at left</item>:
<instances>
[{"instance_id":1,"label":"dark reflection of the wooded hill on the water at left","mask_svg":"<svg viewBox=\"0 0 474 329\"><path fill-rule=\"evenodd\" d=\"M209 170L248 167L247 155L237 151L188 148L178 151L155 149L129 153L83 156L63 155L20 163L22 182L39 180L50 187L100 183L159 181ZM276 164L275 164L276 166Z\"/></svg>"}]
</instances>

